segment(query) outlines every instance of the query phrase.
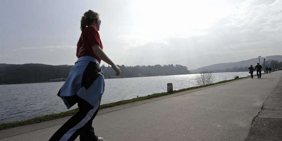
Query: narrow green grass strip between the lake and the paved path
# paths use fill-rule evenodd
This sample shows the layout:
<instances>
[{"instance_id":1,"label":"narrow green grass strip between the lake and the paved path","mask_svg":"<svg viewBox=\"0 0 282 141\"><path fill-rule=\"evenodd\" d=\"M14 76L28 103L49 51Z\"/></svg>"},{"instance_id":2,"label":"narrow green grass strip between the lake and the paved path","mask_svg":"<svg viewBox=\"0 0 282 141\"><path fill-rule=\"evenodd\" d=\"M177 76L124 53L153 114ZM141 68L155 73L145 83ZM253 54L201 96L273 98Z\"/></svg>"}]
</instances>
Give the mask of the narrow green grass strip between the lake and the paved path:
<instances>
[{"instance_id":1,"label":"narrow green grass strip between the lake and the paved path","mask_svg":"<svg viewBox=\"0 0 282 141\"><path fill-rule=\"evenodd\" d=\"M247 77L250 77L250 76L247 76ZM207 86L211 86L211 85L215 85L215 84L225 83L225 82L229 82L229 81L233 81L233 80L239 80L239 79L243 79L243 78L247 78L247 77L241 77L241 78L235 78L235 79L231 79L231 80L219 81L217 83L211 83L211 84L204 85L204 86L195 86L195 87L184 88L184 89L175 90L175 91L169 92L169 93L168 92L154 93L154 94L150 94L150 95L147 95L147 96L132 98L132 99L129 99L129 100L121 100L121 101L117 101L117 102L113 102L113 103L102 104L102 105L100 105L99 109L115 107L115 106L124 105L124 104L127 104L127 103L147 100L147 99L151 99L151 98L156 98L156 97L160 97L160 96L174 94L174 93L177 93L177 92L183 92L183 91L207 87ZM28 120L0 123L0 130L12 128L12 127L23 126L23 125L28 125L28 124L45 122L45 121L54 120L54 119L57 119L57 118L63 118L63 117L66 117L66 116L74 115L77 112L78 112L78 108L73 109L73 110L69 110L69 111L65 111L65 112L61 112L61 113L47 114L45 116L39 116L39 117L31 118L31 119L28 119Z\"/></svg>"}]
</instances>

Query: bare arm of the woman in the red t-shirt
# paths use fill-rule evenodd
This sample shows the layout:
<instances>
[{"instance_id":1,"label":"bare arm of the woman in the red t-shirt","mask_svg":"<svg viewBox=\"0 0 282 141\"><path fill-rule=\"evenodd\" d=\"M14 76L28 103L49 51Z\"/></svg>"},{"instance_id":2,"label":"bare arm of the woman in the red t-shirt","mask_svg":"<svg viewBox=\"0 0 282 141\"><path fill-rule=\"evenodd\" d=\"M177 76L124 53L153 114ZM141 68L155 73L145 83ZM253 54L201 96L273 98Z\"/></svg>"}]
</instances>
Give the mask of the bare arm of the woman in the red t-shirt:
<instances>
[{"instance_id":1,"label":"bare arm of the woman in the red t-shirt","mask_svg":"<svg viewBox=\"0 0 282 141\"><path fill-rule=\"evenodd\" d=\"M94 44L92 46L92 50L101 60L105 61L106 63L112 66L112 68L116 71L116 76L120 75L120 68L118 68L118 66L114 64L114 62L105 54L105 52L103 52L103 50L98 44Z\"/></svg>"}]
</instances>

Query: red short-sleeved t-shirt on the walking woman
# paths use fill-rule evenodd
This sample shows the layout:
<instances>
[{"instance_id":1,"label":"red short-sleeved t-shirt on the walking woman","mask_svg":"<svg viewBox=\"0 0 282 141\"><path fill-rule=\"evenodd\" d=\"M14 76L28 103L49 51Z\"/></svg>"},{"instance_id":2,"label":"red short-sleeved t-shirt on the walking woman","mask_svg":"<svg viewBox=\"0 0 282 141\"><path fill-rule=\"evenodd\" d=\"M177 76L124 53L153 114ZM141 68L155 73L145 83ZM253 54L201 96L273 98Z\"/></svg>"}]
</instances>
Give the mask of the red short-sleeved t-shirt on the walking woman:
<instances>
[{"instance_id":1,"label":"red short-sleeved t-shirt on the walking woman","mask_svg":"<svg viewBox=\"0 0 282 141\"><path fill-rule=\"evenodd\" d=\"M94 26L86 27L84 31L81 33L81 36L77 43L77 49L76 49L77 58L80 58L82 56L92 56L96 58L100 63L101 59L98 56L96 56L96 54L92 49L92 46L94 44L98 44L100 48L103 49L103 45L100 40L100 35L98 33L97 28Z\"/></svg>"}]
</instances>

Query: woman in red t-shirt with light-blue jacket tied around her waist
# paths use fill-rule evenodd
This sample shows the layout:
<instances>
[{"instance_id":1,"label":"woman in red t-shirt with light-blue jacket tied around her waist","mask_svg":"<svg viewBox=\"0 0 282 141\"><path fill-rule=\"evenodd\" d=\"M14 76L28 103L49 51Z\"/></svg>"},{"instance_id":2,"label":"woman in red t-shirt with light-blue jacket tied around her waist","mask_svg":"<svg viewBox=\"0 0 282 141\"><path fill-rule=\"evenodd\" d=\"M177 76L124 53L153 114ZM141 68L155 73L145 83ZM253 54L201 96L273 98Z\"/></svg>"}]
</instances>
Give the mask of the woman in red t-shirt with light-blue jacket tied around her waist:
<instances>
[{"instance_id":1,"label":"woman in red t-shirt with light-blue jacket tied around her waist","mask_svg":"<svg viewBox=\"0 0 282 141\"><path fill-rule=\"evenodd\" d=\"M98 33L100 25L99 14L92 10L85 12L81 18L82 32L76 50L78 60L58 92L68 109L78 103L79 111L58 129L49 141L73 141L78 135L81 141L103 141L102 137L95 135L92 127L92 120L98 113L105 87L100 61L111 65L116 71L116 76L121 71L103 52Z\"/></svg>"}]
</instances>

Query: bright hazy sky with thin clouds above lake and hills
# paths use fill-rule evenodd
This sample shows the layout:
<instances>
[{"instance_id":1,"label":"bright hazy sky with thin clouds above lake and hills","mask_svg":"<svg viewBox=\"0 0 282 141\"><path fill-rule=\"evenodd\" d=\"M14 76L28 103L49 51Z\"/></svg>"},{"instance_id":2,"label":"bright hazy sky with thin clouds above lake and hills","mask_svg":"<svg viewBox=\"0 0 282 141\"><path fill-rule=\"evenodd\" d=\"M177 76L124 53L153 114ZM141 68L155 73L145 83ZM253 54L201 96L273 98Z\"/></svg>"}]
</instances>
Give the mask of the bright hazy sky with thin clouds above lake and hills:
<instances>
[{"instance_id":1,"label":"bright hazy sky with thin clouds above lake and hills","mask_svg":"<svg viewBox=\"0 0 282 141\"><path fill-rule=\"evenodd\" d=\"M119 65L180 64L197 69L282 55L282 0L0 0L0 4L0 63L74 65L80 19L89 9L100 14L104 51Z\"/></svg>"}]
</instances>

